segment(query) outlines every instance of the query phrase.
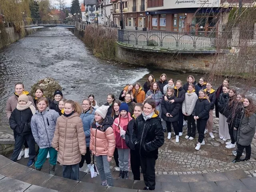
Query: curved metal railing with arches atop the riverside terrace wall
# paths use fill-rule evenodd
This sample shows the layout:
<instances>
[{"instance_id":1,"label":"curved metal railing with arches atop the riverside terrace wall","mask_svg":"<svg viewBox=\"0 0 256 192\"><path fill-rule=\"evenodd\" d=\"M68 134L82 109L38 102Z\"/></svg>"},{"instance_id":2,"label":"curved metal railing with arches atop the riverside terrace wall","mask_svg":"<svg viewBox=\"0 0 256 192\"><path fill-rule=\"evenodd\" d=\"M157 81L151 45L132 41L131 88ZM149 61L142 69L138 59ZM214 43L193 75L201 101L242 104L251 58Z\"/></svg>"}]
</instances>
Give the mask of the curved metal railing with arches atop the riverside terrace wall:
<instances>
[{"instance_id":1,"label":"curved metal railing with arches atop the riverside terrace wall","mask_svg":"<svg viewBox=\"0 0 256 192\"><path fill-rule=\"evenodd\" d=\"M205 50L231 47L223 32L144 32L118 30L118 42L140 48Z\"/></svg>"}]
</instances>

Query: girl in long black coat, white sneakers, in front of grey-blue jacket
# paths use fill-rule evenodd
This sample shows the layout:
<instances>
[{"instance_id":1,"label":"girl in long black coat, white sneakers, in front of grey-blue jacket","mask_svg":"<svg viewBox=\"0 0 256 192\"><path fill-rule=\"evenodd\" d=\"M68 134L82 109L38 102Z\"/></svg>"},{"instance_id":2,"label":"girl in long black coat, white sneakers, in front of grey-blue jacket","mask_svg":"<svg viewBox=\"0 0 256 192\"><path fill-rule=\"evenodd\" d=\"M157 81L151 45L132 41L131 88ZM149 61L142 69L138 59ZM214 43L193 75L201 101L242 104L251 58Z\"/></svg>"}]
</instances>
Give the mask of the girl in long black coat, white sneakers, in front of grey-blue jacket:
<instances>
[{"instance_id":1,"label":"girl in long black coat, white sneakers, in front of grey-blue jacket","mask_svg":"<svg viewBox=\"0 0 256 192\"><path fill-rule=\"evenodd\" d=\"M161 103L162 108L162 119L166 121L166 127L168 131L168 139L171 139L171 124L173 126L175 135L176 135L176 143L179 142L179 128L178 128L178 120L179 120L179 110L180 110L180 104L179 103L171 103L170 100L173 100L176 98L174 96L174 89L167 88L166 93L167 101L164 100Z\"/></svg>"}]
</instances>

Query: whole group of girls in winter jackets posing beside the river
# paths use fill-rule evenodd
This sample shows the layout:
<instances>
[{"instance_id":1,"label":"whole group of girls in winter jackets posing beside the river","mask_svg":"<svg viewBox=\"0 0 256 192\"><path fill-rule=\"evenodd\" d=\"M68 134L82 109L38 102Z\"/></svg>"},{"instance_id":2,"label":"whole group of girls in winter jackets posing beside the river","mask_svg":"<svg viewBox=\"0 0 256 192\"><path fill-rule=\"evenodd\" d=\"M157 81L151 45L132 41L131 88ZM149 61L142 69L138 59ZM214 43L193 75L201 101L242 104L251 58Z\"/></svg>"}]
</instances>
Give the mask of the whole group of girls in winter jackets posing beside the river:
<instances>
[{"instance_id":1,"label":"whole group of girls in winter jackets posing beside the river","mask_svg":"<svg viewBox=\"0 0 256 192\"><path fill-rule=\"evenodd\" d=\"M58 161L63 177L79 180L79 171L90 172L92 154L102 185L114 186L109 164L114 156L116 170L120 171L118 178L128 179L131 166L134 180L140 180L141 168L144 190L154 190L155 164L158 148L164 144L164 132L167 130L167 138L171 139L173 128L179 142L186 122L188 133L184 138L193 140L197 128L195 149L199 150L205 144L206 132L214 138L214 107L219 117L219 137L224 141L231 138L226 148L237 146L233 162L249 160L256 106L252 98L237 95L228 84L225 79L215 91L211 82L200 78L196 84L192 75L183 86L180 80L167 80L166 74L157 82L150 75L143 88L138 82L129 84L121 91L119 100L108 94L106 104L97 105L92 94L80 104L63 98L60 90L50 100L39 87L33 99L22 83L16 83L14 95L6 104L15 138L11 160L24 155L29 158L27 165L35 163L40 171L49 158L50 174L54 174ZM39 146L36 162L35 143ZM244 148L246 157L240 159Z\"/></svg>"}]
</instances>

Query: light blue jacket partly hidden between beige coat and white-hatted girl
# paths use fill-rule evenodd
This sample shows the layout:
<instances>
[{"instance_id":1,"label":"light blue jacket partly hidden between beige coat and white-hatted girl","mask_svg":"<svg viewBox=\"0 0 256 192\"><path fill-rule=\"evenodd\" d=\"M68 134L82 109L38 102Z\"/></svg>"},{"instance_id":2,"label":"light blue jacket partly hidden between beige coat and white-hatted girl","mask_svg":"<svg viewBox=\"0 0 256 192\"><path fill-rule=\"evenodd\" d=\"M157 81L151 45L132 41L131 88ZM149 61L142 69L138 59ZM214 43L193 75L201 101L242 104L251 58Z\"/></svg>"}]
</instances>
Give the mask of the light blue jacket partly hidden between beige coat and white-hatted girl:
<instances>
[{"instance_id":1,"label":"light blue jacket partly hidden between beige coat and white-hatted girl","mask_svg":"<svg viewBox=\"0 0 256 192\"><path fill-rule=\"evenodd\" d=\"M95 109L92 111L88 110L86 113L80 115L84 127L86 147L90 147L91 125L94 122L94 113Z\"/></svg>"}]
</instances>

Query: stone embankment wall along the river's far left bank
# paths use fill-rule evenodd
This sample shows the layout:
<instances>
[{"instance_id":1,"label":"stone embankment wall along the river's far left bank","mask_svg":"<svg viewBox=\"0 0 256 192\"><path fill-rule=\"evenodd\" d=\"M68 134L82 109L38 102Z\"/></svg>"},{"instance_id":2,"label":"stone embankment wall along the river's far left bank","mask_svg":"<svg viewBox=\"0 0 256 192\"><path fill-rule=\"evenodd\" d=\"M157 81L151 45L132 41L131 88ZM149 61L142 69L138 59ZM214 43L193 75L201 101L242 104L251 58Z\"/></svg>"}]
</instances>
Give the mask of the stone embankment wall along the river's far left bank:
<instances>
[{"instance_id":1,"label":"stone embankment wall along the river's far left bank","mask_svg":"<svg viewBox=\"0 0 256 192\"><path fill-rule=\"evenodd\" d=\"M8 40L4 41L0 36L0 49L22 38L21 35L18 32L16 32L14 27L8 27L8 28L5 28L5 30L8 34ZM26 36L29 34L32 34L33 32L36 32L37 30L39 29L26 29ZM8 42L8 43L4 44L4 42Z\"/></svg>"}]
</instances>

